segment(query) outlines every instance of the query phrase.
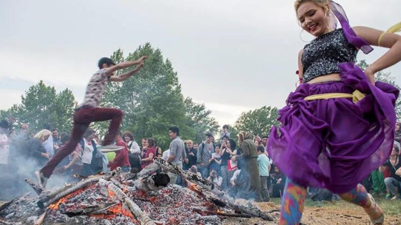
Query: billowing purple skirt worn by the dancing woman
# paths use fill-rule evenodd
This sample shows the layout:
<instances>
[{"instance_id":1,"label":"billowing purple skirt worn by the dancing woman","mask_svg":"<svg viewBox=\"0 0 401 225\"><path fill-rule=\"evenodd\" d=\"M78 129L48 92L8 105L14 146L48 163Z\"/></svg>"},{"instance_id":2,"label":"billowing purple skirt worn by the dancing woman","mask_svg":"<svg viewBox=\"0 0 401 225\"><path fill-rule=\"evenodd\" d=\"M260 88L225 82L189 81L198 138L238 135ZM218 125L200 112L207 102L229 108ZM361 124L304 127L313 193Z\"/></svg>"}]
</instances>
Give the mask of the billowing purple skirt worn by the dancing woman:
<instances>
[{"instance_id":1,"label":"billowing purple skirt worn by the dancing woman","mask_svg":"<svg viewBox=\"0 0 401 225\"><path fill-rule=\"evenodd\" d=\"M302 186L345 193L355 188L391 153L395 131L395 100L390 84L373 86L354 63L339 65L341 81L301 84L279 110L279 132L273 127L267 151L292 181ZM351 98L306 101L313 94L366 94Z\"/></svg>"}]
</instances>

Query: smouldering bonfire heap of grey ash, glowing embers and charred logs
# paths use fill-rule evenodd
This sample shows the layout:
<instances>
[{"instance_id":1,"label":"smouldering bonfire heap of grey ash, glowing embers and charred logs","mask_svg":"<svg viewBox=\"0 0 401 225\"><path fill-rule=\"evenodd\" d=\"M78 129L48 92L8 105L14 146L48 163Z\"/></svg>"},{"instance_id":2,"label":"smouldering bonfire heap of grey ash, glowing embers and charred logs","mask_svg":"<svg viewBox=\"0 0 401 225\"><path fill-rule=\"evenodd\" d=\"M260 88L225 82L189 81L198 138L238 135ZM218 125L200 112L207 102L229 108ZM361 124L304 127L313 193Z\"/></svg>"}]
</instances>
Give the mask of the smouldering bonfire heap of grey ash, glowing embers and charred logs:
<instances>
[{"instance_id":1,"label":"smouldering bonfire heap of grey ash, glowing embers and charred logs","mask_svg":"<svg viewBox=\"0 0 401 225\"><path fill-rule=\"evenodd\" d=\"M167 185L166 172L181 176L187 187ZM217 225L227 217L273 221L272 215L235 203L210 181L162 159L138 174L117 168L52 191L26 182L38 197L27 193L0 206L0 225Z\"/></svg>"}]
</instances>

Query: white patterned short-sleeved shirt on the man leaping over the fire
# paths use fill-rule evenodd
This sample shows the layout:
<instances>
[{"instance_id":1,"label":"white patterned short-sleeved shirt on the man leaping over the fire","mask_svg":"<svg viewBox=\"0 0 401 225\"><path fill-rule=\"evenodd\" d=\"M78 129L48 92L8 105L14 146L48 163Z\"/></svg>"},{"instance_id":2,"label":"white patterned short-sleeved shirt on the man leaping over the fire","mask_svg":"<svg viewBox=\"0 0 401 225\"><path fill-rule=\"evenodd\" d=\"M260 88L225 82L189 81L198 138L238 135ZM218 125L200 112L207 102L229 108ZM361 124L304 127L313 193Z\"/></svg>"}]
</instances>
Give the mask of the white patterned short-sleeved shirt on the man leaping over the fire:
<instances>
[{"instance_id":1,"label":"white patterned short-sleeved shirt on the man leaping over the fire","mask_svg":"<svg viewBox=\"0 0 401 225\"><path fill-rule=\"evenodd\" d=\"M93 74L91 80L89 80L88 86L86 87L85 98L81 104L97 107L101 98L103 97L109 74L106 73L107 68L98 70Z\"/></svg>"}]
</instances>

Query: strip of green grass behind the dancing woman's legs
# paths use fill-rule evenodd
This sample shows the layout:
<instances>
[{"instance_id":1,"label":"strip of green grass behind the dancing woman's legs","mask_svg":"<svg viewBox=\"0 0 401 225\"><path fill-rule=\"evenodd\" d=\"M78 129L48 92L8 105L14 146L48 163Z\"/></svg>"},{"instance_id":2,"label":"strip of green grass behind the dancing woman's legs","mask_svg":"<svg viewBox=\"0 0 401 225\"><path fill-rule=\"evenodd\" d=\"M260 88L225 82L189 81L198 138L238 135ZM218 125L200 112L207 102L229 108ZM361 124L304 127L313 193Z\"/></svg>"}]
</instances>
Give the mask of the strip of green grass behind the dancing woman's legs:
<instances>
[{"instance_id":1,"label":"strip of green grass behind the dancing woman's legs","mask_svg":"<svg viewBox=\"0 0 401 225\"><path fill-rule=\"evenodd\" d=\"M386 215L399 216L401 214L401 200L389 200L383 198L375 198L377 204L385 211ZM280 205L281 199L273 198L270 200L276 205ZM354 205L351 203L347 203L345 201L312 201L311 199L305 200L306 207L325 207L325 208L333 208L333 209L346 209L347 207L352 208Z\"/></svg>"}]
</instances>

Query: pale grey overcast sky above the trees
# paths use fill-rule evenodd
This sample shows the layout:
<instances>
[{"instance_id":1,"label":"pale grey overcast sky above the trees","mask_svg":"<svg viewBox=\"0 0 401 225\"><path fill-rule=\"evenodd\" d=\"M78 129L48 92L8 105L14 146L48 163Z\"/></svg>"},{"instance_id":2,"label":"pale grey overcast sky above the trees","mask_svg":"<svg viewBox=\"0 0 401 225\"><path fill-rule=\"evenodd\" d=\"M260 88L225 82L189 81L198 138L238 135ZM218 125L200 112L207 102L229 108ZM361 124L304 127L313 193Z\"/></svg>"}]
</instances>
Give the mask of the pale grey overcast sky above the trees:
<instances>
[{"instance_id":1,"label":"pale grey overcast sky above the trees","mask_svg":"<svg viewBox=\"0 0 401 225\"><path fill-rule=\"evenodd\" d=\"M385 4L383 4L385 2ZM351 26L385 30L400 0L338 0ZM282 107L295 88L306 44L294 0L0 0L0 109L44 80L78 102L97 60L150 42L178 72L184 96L205 103L220 125L263 105ZM398 16L397 16L398 15ZM312 40L308 34L302 39ZM358 59L373 62L375 47ZM401 83L401 63L387 69Z\"/></svg>"}]
</instances>

